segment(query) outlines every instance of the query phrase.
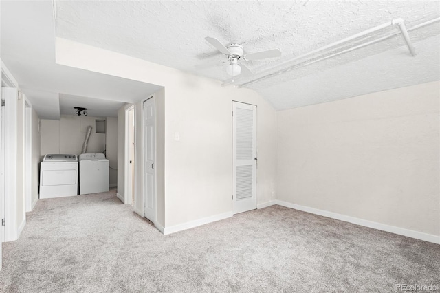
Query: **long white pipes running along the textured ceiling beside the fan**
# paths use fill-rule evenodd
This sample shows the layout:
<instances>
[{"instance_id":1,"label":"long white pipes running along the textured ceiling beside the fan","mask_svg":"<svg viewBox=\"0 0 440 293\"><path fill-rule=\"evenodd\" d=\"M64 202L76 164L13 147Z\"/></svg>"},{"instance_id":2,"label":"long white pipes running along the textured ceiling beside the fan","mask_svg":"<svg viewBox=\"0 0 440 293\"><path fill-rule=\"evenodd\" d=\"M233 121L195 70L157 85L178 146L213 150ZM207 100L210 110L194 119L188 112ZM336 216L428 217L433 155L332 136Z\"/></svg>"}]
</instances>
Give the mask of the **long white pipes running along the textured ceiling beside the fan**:
<instances>
[{"instance_id":1,"label":"long white pipes running along the textured ceiling beside the fan","mask_svg":"<svg viewBox=\"0 0 440 293\"><path fill-rule=\"evenodd\" d=\"M415 29L421 28L421 27L423 27L425 25L430 25L431 23L435 23L437 21L440 21L440 17L437 17L436 19L431 19L430 21L426 21L424 23L420 23L419 25L415 25L412 28L410 28L410 30L415 30ZM314 59L312 58L310 61L307 61L305 63L291 65L292 62L298 61L299 59L305 58L307 56L311 56L311 55L319 53L319 52L323 52L325 50L331 49L331 48L336 47L338 45L341 45L343 43L347 43L349 41L353 41L354 39L358 39L358 38L360 38L362 36L366 36L367 34L371 34L373 32L377 32L379 30L383 30L384 28L388 28L389 26L392 26L392 25L397 25L399 27L400 32L395 32L395 33L389 34L387 36L382 36L379 39L375 39L373 41L368 41L368 42L365 42L365 43L361 43L360 45L356 45L354 47L350 47L347 50L343 50L341 52L336 52L336 53L333 53L333 54L330 54L330 55L327 55L327 56L324 56L324 57L321 57L321 58L314 58ZM351 52L353 50L360 49L362 47L366 47L367 45L372 45L374 43L379 43L380 41L384 41L386 39L389 39L389 38L391 38L391 37L393 37L393 36L395 36L397 34L401 34L402 35L406 45L408 46L408 50L410 51L410 54L412 56L415 56L415 47L412 45L410 36L408 34L408 30L406 29L406 26L405 26L404 19L400 19L400 18L399 19L393 19L392 21L388 21L387 23L384 23L382 25L377 25L376 27L371 28L369 30L364 30L363 32L360 32L358 34L353 34L353 36L349 36L349 37L347 37L345 39L342 39L340 41L336 41L336 42L331 43L329 45L325 45L324 47L320 47L320 48L318 48L316 50L313 50L311 52L302 54L300 56L297 56L295 58L289 59L289 60L284 61L282 63L278 63L276 65L276 67L271 67L269 69L263 70L263 72L259 72L258 74L255 74L256 76L259 76L259 77L254 78L252 80L249 80L249 81L247 81L245 83L241 83L238 86L239 87L245 87L245 86L251 85L253 83L258 83L261 80L265 80L267 78L271 78L271 77L274 77L274 76L278 76L280 74L284 74L286 72L292 71L293 69L298 69L300 67L305 67L305 66L308 66L308 65L311 65L311 64L314 64L314 63L318 63L320 61L323 61L323 60L331 58L331 57L335 57L335 56L338 56L338 55L341 55L341 54L345 54L347 52ZM290 66L288 66L288 65L290 65ZM288 67L284 67L283 69L277 69L277 68L283 67L283 66L288 66ZM234 83L234 81L228 80L228 81L224 82L222 85L226 86L226 85L230 85L231 83Z\"/></svg>"}]
</instances>

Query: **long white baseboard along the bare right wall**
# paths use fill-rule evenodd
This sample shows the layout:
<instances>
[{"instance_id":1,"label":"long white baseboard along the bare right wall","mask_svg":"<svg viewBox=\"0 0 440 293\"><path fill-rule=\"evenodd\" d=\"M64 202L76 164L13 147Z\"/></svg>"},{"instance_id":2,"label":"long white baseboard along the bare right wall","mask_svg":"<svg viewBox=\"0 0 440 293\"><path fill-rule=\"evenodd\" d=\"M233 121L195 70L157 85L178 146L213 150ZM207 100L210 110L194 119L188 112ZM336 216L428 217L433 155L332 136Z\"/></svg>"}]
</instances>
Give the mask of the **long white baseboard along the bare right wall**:
<instances>
[{"instance_id":1,"label":"long white baseboard along the bare right wall","mask_svg":"<svg viewBox=\"0 0 440 293\"><path fill-rule=\"evenodd\" d=\"M292 204L290 202L283 202L282 200L276 200L275 202L276 202L276 204L278 204L280 206L285 206L286 208L294 208L295 210L302 210L303 212L307 212L307 213L311 213L311 214L315 214L315 215L329 217L332 219L338 219L340 221L348 221L349 223L353 223L356 225L374 228L377 230L382 230L382 231L386 231L386 232L395 233L398 235L403 235L406 237L411 237L411 238L420 239L423 241L428 241L428 242L440 244L440 236L431 235L431 234L418 232L418 231L414 231L414 230L408 230L405 228L399 228L396 226L381 224L381 223L377 223L375 221L369 221L366 219L359 219L356 217L351 217L351 216L347 216L347 215L329 212L327 210L320 210L318 208L310 208L309 206L300 206L299 204Z\"/></svg>"}]
</instances>

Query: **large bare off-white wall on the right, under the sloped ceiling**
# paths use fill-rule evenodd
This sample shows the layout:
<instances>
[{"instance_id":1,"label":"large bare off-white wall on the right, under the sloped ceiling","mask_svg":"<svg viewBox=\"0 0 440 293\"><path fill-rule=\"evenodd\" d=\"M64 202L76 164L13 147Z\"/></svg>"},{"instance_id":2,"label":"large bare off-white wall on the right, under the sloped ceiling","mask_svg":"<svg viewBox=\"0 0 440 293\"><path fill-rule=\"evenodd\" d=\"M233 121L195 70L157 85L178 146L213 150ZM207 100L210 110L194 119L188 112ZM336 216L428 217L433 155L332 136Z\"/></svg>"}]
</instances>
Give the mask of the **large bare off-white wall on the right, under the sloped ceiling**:
<instances>
[{"instance_id":1,"label":"large bare off-white wall on the right, under the sloped ceiling","mask_svg":"<svg viewBox=\"0 0 440 293\"><path fill-rule=\"evenodd\" d=\"M277 199L440 235L439 89L279 111Z\"/></svg>"}]
</instances>

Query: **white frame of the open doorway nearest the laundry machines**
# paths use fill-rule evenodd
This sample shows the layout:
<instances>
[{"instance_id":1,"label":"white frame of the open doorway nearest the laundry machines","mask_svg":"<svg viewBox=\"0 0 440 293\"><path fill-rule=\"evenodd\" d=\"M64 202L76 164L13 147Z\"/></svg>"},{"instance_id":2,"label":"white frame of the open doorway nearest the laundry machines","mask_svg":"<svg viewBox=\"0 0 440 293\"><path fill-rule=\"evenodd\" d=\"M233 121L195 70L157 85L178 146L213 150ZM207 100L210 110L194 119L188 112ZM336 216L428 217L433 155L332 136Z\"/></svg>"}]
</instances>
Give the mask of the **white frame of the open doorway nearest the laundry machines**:
<instances>
[{"instance_id":1,"label":"white frame of the open doorway nearest the laundry machines","mask_svg":"<svg viewBox=\"0 0 440 293\"><path fill-rule=\"evenodd\" d=\"M133 183L130 184L130 181L136 182L135 180L135 170L130 166L129 163L129 131L131 124L133 122L129 121L129 112L133 111L133 120L135 121L135 133L133 137L133 142L135 144L135 153L136 153L136 111L135 111L135 105L127 105L125 108L125 147L124 147L124 204L133 204L133 193L135 193L135 188L133 189ZM135 156L135 155L134 155ZM135 156L136 158L136 156ZM131 178L129 176L129 173L131 173Z\"/></svg>"}]
</instances>

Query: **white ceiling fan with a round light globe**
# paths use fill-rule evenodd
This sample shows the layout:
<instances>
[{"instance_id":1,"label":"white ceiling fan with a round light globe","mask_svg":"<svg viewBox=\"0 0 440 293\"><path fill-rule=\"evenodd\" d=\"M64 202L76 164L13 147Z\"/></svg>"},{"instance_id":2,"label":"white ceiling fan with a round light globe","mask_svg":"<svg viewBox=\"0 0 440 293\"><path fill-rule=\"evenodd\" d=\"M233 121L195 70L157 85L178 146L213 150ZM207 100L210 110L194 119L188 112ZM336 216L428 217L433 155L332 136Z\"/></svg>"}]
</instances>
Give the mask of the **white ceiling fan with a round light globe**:
<instances>
[{"instance_id":1,"label":"white ceiling fan with a round light globe","mask_svg":"<svg viewBox=\"0 0 440 293\"><path fill-rule=\"evenodd\" d=\"M232 77L242 74L243 76L251 76L253 73L248 66L244 65L242 61L254 61L265 58L274 58L281 56L281 51L278 49L272 49L262 52L244 54L243 46L239 44L230 44L224 46L219 40L207 36L206 41L213 45L221 53L228 56L228 67L226 72Z\"/></svg>"}]
</instances>

